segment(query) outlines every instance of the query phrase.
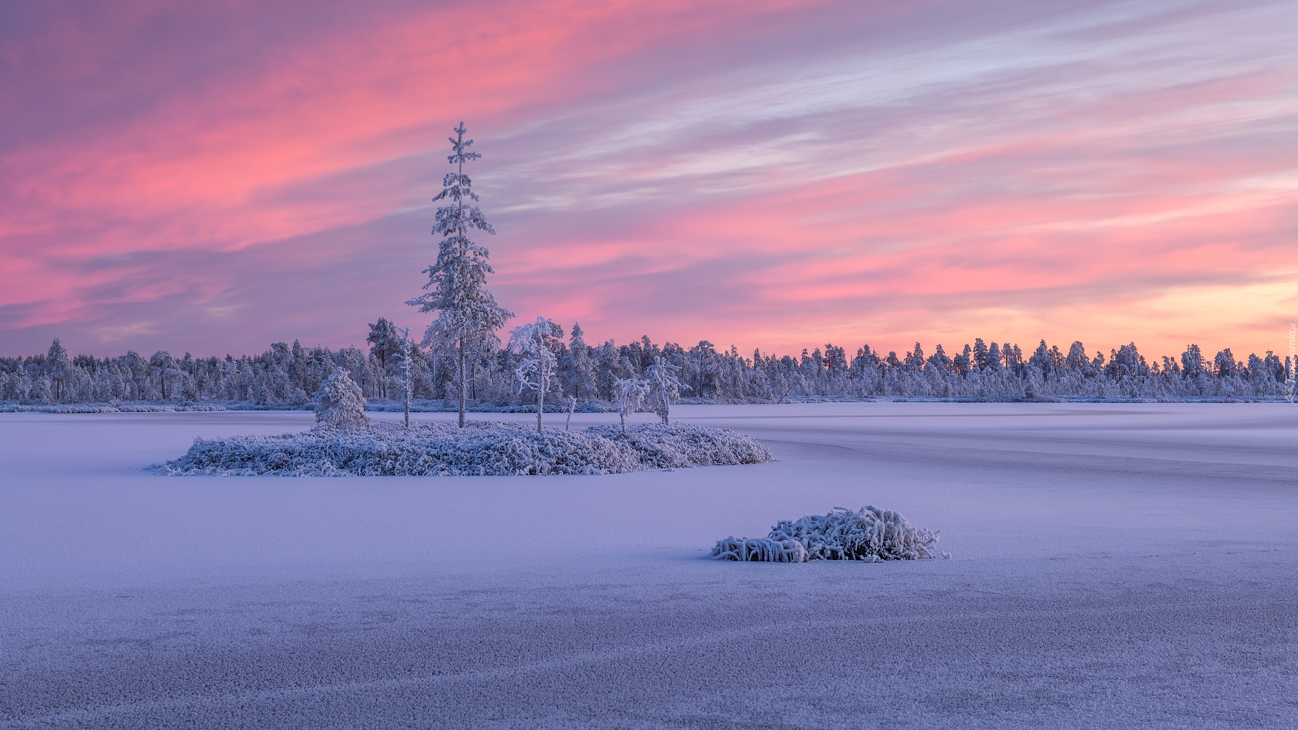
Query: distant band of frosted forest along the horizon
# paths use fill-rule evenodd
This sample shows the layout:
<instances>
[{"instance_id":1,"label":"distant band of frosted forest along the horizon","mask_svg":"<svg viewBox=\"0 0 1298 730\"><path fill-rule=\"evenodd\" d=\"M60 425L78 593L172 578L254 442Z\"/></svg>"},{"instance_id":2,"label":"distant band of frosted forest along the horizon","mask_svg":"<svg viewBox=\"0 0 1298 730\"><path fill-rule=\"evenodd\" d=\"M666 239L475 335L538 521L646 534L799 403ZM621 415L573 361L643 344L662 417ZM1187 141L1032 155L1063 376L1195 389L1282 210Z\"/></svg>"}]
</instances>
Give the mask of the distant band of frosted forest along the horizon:
<instances>
[{"instance_id":1,"label":"distant band of frosted forest along the horizon","mask_svg":"<svg viewBox=\"0 0 1298 730\"><path fill-rule=\"evenodd\" d=\"M18 404L175 405L249 404L291 408L312 401L334 368L348 370L367 399L397 399L401 381L401 339L386 320L371 325L367 349L331 351L275 343L261 355L241 357L175 357L160 351L148 357L127 352L117 357L69 356L56 339L45 355L0 357L0 400ZM643 377L655 356L680 366L688 386L685 403L788 403L816 399L935 397L935 399L1277 399L1288 394L1286 377L1294 362L1272 352L1237 359L1231 349L1207 357L1198 346L1179 357L1146 361L1134 344L1088 356L1083 343L1067 351L1042 340L1031 353L1018 344L977 339L954 356L942 346L925 353L919 343L910 352L887 355L870 346L854 355L833 344L801 357L740 355L733 347L716 349L710 342L684 348L658 346L648 336L630 344L613 340L589 346L582 327L572 326L567 342L557 342L558 377L546 401L572 396L579 403L613 399L614 381ZM458 357L453 353L411 355L411 386L417 399L453 399L458 392ZM479 407L526 407L532 392L519 392L514 370L519 356L508 348L467 360L470 399ZM549 405L546 407L549 409Z\"/></svg>"}]
</instances>

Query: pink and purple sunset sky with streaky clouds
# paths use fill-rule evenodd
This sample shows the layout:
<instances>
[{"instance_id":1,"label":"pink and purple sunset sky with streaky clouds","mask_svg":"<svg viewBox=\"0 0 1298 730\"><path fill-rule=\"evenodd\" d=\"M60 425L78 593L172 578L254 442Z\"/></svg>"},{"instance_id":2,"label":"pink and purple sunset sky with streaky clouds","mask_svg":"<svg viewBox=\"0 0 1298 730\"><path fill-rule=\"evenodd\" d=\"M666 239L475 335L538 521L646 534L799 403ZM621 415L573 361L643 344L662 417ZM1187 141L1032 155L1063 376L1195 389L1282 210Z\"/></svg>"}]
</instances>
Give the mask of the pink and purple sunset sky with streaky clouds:
<instances>
[{"instance_id":1,"label":"pink and purple sunset sky with streaky clouds","mask_svg":"<svg viewBox=\"0 0 1298 730\"><path fill-rule=\"evenodd\" d=\"M1298 321L1284 0L122 8L4 10L0 355L422 330L461 120L489 286L592 342L1242 356Z\"/></svg>"}]
</instances>

